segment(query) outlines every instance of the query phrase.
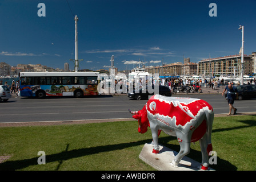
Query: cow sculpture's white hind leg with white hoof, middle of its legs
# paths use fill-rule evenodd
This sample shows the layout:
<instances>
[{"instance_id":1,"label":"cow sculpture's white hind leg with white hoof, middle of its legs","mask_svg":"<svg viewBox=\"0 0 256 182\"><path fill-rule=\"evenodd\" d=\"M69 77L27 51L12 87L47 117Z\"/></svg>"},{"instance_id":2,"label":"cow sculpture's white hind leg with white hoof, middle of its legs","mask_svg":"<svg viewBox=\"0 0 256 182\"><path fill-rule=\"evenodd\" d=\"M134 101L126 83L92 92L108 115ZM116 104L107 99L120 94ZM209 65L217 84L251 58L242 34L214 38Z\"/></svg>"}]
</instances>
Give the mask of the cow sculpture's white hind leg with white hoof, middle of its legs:
<instances>
[{"instance_id":1,"label":"cow sculpture's white hind leg with white hoof, middle of its legs","mask_svg":"<svg viewBox=\"0 0 256 182\"><path fill-rule=\"evenodd\" d=\"M183 134L177 133L177 138L178 138L179 146L181 147L181 149L173 159L173 162L171 162L171 166L174 166L174 167L177 167L179 162L181 162L181 159L183 158L183 156L189 154L190 152L190 142L188 141L191 140L191 136L189 137L189 134L183 135Z\"/></svg>"}]
</instances>

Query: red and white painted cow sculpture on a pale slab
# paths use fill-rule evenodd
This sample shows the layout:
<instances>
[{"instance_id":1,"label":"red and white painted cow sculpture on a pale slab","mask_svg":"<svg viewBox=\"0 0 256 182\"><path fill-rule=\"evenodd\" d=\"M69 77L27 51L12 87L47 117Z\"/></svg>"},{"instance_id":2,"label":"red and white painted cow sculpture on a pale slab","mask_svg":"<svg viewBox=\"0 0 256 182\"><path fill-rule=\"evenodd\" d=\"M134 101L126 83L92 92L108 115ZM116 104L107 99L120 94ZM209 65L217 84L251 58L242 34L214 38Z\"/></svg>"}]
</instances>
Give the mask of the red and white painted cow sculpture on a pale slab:
<instances>
[{"instance_id":1,"label":"red and white painted cow sculpture on a pale slab","mask_svg":"<svg viewBox=\"0 0 256 182\"><path fill-rule=\"evenodd\" d=\"M138 120L139 133L145 133L150 127L153 142L153 153L159 153L158 137L161 131L176 136L180 151L171 165L177 167L183 156L189 154L190 143L197 142L202 152L201 169L209 166L211 146L211 130L213 126L213 107L206 101L197 98L164 97L154 95L142 110L131 111Z\"/></svg>"}]
</instances>

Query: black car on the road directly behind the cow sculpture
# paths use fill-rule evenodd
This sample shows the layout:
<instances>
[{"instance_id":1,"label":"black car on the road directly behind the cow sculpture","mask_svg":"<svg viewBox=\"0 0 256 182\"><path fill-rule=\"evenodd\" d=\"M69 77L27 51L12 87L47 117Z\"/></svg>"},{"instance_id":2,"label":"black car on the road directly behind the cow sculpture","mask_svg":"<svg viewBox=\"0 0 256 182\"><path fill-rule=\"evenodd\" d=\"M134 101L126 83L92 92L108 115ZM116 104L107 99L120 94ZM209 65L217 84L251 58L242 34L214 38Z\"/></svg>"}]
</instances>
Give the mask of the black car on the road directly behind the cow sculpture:
<instances>
[{"instance_id":1,"label":"black car on the road directly behind the cow sculpture","mask_svg":"<svg viewBox=\"0 0 256 182\"><path fill-rule=\"evenodd\" d=\"M159 94L162 96L171 96L171 90L167 86L159 86ZM133 92L127 93L127 96L129 98L132 98L135 100L142 100L143 98L147 99L149 98L149 95L154 95L154 93L147 92L147 89L145 90L139 89L139 93L135 93L135 90L133 90Z\"/></svg>"}]
</instances>

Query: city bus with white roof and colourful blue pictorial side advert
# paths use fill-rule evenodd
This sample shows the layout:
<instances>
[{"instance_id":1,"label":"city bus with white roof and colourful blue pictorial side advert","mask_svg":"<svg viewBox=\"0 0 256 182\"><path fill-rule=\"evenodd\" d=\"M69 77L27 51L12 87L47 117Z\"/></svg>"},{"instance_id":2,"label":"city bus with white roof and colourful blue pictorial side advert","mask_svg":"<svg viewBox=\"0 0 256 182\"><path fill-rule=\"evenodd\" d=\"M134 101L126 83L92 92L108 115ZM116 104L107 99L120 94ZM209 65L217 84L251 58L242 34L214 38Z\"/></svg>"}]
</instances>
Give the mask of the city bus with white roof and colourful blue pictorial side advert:
<instances>
[{"instance_id":1,"label":"city bus with white roof and colourful blue pictorial side advert","mask_svg":"<svg viewBox=\"0 0 256 182\"><path fill-rule=\"evenodd\" d=\"M21 72L19 96L97 96L99 72Z\"/></svg>"}]
</instances>

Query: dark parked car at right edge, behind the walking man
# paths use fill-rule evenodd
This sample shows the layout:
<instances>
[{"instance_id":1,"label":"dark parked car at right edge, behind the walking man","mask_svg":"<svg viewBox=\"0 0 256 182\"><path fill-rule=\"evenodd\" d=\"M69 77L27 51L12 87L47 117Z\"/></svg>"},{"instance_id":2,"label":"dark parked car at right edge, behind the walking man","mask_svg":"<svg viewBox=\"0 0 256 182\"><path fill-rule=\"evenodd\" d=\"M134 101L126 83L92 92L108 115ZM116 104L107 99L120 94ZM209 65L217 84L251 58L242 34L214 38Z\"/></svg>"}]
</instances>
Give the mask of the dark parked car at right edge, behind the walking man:
<instances>
[{"instance_id":1,"label":"dark parked car at right edge, behind the walking man","mask_svg":"<svg viewBox=\"0 0 256 182\"><path fill-rule=\"evenodd\" d=\"M256 98L256 86L255 85L239 85L238 90L238 100L245 100ZM225 94L227 96L227 94Z\"/></svg>"}]
</instances>

